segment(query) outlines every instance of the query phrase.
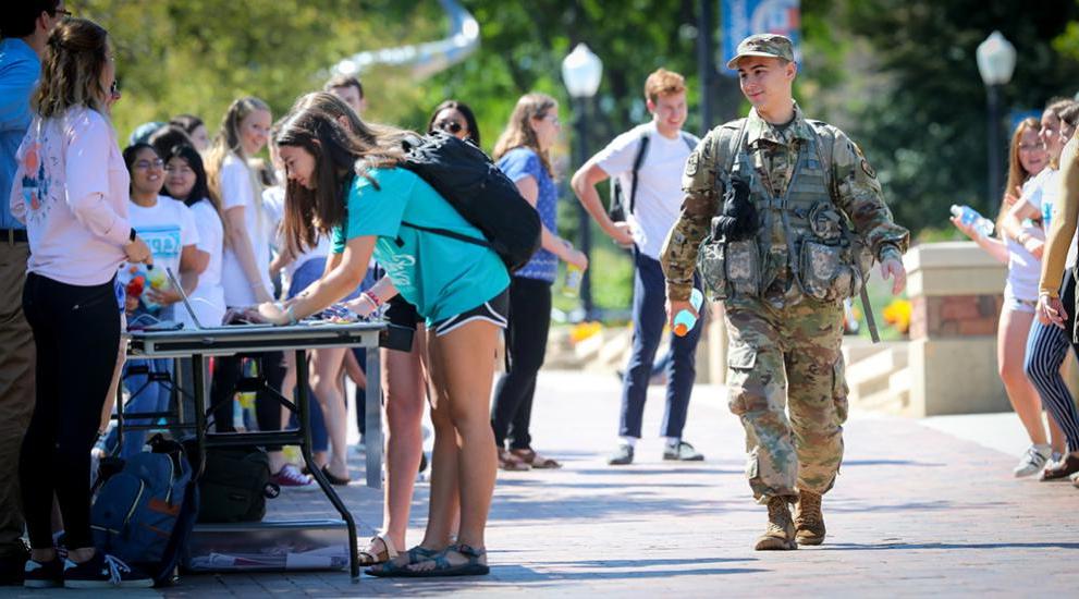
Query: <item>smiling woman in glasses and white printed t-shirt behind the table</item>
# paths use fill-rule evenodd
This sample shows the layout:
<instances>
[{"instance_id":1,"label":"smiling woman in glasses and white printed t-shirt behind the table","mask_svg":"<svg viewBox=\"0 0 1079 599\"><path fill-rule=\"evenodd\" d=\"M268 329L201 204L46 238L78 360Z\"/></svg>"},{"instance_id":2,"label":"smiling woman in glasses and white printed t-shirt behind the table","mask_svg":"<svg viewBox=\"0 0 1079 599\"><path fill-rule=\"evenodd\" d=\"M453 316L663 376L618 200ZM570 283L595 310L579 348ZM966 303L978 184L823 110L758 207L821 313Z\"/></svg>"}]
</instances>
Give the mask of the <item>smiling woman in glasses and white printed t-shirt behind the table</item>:
<instances>
[{"instance_id":1,"label":"smiling woman in glasses and white printed t-shirt behind the table","mask_svg":"<svg viewBox=\"0 0 1079 599\"><path fill-rule=\"evenodd\" d=\"M128 328L151 325L158 320L172 320L180 292L165 273L172 270L184 291L189 293L198 281L198 270L206 256L198 252L198 231L191 210L171 197L161 196L164 185L164 161L149 144L128 146L123 152L124 163L131 174L131 205L127 207L132 227L146 240L154 256L154 266L120 265L119 280L127 296ZM145 366L147 371L132 372L133 366ZM132 414L163 412L169 406L169 386L151 380L151 374L172 376L171 359L132 359L124 367L124 387L132 393L124 412ZM150 420L131 418L127 424L143 425ZM145 430L124 433L121 457L131 457L143 451ZM108 450L117 442L115 429L105 441Z\"/></svg>"}]
</instances>

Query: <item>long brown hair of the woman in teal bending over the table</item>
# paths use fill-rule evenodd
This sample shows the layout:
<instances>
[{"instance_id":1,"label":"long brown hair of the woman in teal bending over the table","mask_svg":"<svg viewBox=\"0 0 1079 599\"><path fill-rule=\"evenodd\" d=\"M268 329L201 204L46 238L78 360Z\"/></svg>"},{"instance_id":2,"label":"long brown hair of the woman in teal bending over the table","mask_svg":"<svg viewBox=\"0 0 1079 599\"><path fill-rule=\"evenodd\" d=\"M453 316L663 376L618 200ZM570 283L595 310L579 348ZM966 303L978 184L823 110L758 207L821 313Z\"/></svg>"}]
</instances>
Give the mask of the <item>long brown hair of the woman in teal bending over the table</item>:
<instances>
[{"instance_id":1,"label":"long brown hair of the woman in teal bending over the table","mask_svg":"<svg viewBox=\"0 0 1079 599\"><path fill-rule=\"evenodd\" d=\"M306 108L290 114L273 139L283 146L303 148L315 158L309 190L290 179L285 186L283 234L290 249L314 247L319 233L344 222L348 186L368 169L392 168L404 160L400 130L381 127L372 143L345 130L333 115ZM375 183L373 181L371 181Z\"/></svg>"}]
</instances>

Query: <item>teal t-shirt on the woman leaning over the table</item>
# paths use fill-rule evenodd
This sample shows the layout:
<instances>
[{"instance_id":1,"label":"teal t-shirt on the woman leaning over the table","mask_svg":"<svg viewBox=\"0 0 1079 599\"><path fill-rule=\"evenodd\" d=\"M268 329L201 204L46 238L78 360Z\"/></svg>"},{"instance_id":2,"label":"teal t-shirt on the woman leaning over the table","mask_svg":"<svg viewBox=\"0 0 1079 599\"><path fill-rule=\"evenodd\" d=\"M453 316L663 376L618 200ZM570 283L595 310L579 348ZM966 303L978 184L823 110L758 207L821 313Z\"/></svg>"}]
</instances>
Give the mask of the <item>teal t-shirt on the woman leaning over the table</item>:
<instances>
[{"instance_id":1,"label":"teal t-shirt on the woman leaning over the table","mask_svg":"<svg viewBox=\"0 0 1079 599\"><path fill-rule=\"evenodd\" d=\"M510 285L502 259L489 247L404 227L447 229L482 240L433 187L405 169L371 169L348 188L347 212L333 228L333 253L354 237L376 235L375 259L394 286L431 325L467 311Z\"/></svg>"}]
</instances>

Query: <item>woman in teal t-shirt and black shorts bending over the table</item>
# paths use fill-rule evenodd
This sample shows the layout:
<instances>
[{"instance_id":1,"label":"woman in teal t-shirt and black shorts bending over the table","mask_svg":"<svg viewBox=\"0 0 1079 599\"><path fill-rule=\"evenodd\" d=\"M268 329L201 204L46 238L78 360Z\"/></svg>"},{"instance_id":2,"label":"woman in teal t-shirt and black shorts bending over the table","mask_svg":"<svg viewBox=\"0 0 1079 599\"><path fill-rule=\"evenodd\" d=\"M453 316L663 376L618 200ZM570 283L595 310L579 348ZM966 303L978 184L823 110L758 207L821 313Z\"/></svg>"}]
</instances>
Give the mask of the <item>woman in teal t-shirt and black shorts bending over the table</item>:
<instances>
[{"instance_id":1,"label":"woman in teal t-shirt and black shorts bending over the table","mask_svg":"<svg viewBox=\"0 0 1079 599\"><path fill-rule=\"evenodd\" d=\"M331 235L333 247L322 279L285 304L262 304L262 316L286 323L322 310L356 289L373 254L387 277L350 306L370 314L400 293L426 319L434 424L427 530L419 546L368 573L487 574L483 529L496 472L488 401L510 276L488 247L404 224L482 235L424 180L397 167L400 132L380 129L361 140L307 109L281 125L275 142L289 173L285 233L297 247L310 247L317 233Z\"/></svg>"}]
</instances>

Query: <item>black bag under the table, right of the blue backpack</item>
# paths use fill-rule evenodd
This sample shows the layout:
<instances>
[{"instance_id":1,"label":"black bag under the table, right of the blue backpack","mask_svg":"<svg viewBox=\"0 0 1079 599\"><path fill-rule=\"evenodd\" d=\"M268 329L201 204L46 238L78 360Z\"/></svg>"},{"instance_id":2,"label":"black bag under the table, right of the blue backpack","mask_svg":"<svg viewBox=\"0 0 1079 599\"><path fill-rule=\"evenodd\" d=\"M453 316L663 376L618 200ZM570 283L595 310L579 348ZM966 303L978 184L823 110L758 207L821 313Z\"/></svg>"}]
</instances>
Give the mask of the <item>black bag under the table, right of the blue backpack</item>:
<instances>
[{"instance_id":1,"label":"black bag under the table, right of the blue backpack","mask_svg":"<svg viewBox=\"0 0 1079 599\"><path fill-rule=\"evenodd\" d=\"M259 448L209 448L198 479L198 522L259 522L266 500L280 494L270 482L270 460Z\"/></svg>"}]
</instances>

